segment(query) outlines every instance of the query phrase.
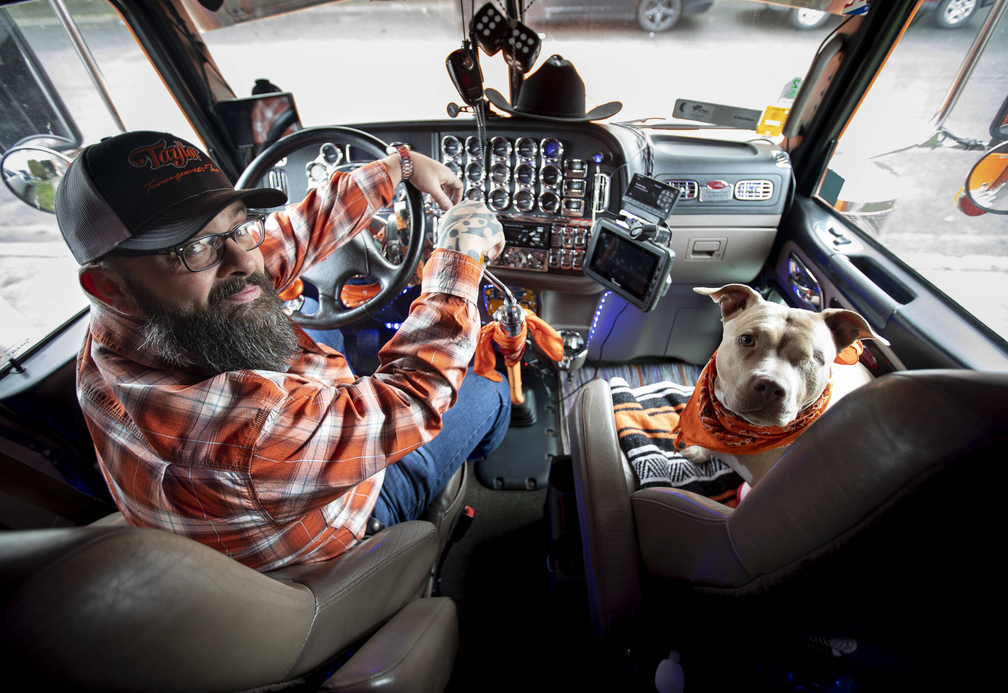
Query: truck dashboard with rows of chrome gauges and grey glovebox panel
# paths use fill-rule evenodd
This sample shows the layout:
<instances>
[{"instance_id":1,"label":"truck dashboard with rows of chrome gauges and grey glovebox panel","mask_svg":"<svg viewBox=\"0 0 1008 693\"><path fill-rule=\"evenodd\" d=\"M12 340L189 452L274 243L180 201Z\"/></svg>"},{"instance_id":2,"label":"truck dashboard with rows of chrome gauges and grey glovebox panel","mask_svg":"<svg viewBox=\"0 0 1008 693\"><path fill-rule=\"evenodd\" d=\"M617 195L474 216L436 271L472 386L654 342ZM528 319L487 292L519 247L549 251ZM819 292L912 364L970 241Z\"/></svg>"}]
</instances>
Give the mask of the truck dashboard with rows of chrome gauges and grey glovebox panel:
<instances>
[{"instance_id":1,"label":"truck dashboard with rows of chrome gauges and grey glovebox panel","mask_svg":"<svg viewBox=\"0 0 1008 693\"><path fill-rule=\"evenodd\" d=\"M481 156L473 120L351 127L386 142L408 142L449 166L466 197L485 199L506 238L494 273L529 296L553 327L581 332L592 360L706 361L720 340L720 313L692 287L756 279L793 194L788 155L755 133L750 133L752 141L656 129L644 136L617 124L491 118L489 146ZM282 167L291 199L303 195L305 166L319 153L318 147L297 152ZM347 155L357 158L353 151ZM600 216L617 219L630 179L649 170L679 189L665 220L674 254L671 285L654 311L622 311L621 302L607 303L605 288L585 275L585 254L594 222ZM430 221L428 229L436 226L436 217ZM593 327L605 324L612 310L621 315L620 329L605 341L602 355L604 339L592 338Z\"/></svg>"}]
</instances>

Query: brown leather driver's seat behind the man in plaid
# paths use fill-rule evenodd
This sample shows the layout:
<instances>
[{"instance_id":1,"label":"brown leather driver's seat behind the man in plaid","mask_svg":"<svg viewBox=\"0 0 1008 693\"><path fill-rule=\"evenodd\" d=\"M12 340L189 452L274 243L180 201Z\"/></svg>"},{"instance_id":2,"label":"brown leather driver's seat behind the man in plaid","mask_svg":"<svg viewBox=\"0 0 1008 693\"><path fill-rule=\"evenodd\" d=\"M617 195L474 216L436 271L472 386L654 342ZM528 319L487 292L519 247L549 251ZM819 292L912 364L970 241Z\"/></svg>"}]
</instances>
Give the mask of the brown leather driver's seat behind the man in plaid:
<instances>
[{"instance_id":1,"label":"brown leather driver's seat behind the man in plaid","mask_svg":"<svg viewBox=\"0 0 1008 693\"><path fill-rule=\"evenodd\" d=\"M114 520L0 533L6 669L40 688L75 690L288 682L444 690L458 649L455 604L424 595L462 508L465 473L430 504L439 527L402 523L333 560L265 574L184 537Z\"/></svg>"}]
</instances>

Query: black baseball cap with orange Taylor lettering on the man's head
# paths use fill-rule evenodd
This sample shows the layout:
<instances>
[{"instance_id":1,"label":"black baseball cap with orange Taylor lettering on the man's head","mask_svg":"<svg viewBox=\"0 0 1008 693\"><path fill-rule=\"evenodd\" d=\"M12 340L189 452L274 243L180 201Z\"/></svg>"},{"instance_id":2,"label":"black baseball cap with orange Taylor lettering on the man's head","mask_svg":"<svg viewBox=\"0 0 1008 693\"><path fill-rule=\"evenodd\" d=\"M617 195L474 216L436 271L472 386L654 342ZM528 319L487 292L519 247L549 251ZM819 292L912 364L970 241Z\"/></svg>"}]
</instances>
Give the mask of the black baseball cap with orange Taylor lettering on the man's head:
<instances>
[{"instance_id":1,"label":"black baseball cap with orange Taylor lettering on the man's head","mask_svg":"<svg viewBox=\"0 0 1008 693\"><path fill-rule=\"evenodd\" d=\"M158 250L188 239L234 201L277 206L272 187L236 190L199 147L166 132L109 137L81 151L56 187L56 222L79 264L111 250Z\"/></svg>"}]
</instances>

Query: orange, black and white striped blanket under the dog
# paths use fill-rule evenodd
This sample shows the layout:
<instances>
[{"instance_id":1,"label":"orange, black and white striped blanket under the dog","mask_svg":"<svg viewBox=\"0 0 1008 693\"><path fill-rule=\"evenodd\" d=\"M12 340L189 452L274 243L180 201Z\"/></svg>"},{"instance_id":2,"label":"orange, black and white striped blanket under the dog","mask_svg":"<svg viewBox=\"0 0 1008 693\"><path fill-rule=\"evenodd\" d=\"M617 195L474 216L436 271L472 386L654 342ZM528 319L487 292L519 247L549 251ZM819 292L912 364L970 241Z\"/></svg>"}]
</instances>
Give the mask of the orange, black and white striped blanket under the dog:
<instances>
[{"instance_id":1,"label":"orange, black and white striped blanket under the dog","mask_svg":"<svg viewBox=\"0 0 1008 693\"><path fill-rule=\"evenodd\" d=\"M742 477L717 457L695 464L672 449L672 430L679 421L692 387L654 383L630 388L612 378L613 413L620 447L627 455L641 489L673 487L723 503L738 505Z\"/></svg>"}]
</instances>

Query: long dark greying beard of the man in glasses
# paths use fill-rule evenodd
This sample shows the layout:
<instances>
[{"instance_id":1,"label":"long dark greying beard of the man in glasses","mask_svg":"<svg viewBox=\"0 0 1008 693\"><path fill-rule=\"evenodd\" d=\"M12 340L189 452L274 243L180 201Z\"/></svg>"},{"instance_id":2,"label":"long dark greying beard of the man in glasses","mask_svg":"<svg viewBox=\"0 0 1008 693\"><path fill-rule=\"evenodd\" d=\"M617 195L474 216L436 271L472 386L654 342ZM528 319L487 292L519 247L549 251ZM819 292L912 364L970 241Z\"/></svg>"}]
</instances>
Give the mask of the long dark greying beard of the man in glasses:
<instances>
[{"instance_id":1,"label":"long dark greying beard of the man in glasses","mask_svg":"<svg viewBox=\"0 0 1008 693\"><path fill-rule=\"evenodd\" d=\"M269 277L257 271L215 287L207 305L172 309L129 279L127 287L146 316L147 343L171 366L220 375L229 371L286 371L300 346L290 318ZM259 287L253 301L235 304L227 297L250 284Z\"/></svg>"}]
</instances>

